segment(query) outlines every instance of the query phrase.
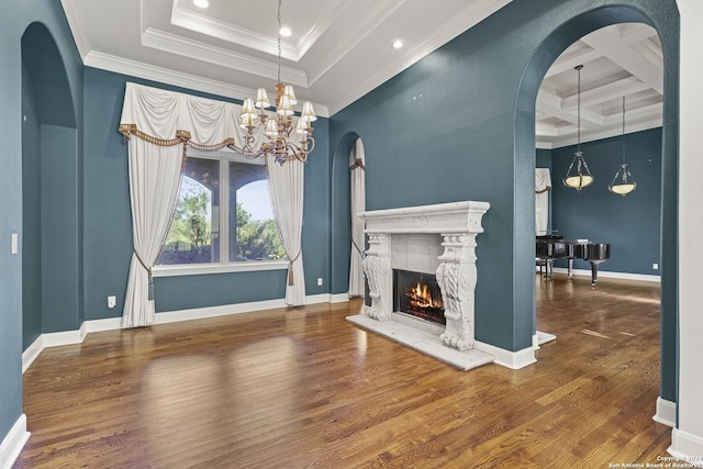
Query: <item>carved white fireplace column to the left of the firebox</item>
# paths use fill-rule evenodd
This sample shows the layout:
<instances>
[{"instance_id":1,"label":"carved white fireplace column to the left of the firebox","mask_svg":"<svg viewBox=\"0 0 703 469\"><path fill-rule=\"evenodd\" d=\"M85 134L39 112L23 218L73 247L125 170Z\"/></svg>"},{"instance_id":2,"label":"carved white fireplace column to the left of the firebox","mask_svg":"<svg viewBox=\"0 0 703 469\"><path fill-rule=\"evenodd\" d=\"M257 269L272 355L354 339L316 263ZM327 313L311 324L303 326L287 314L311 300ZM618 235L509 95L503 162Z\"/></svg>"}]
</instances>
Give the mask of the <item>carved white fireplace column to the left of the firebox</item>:
<instances>
[{"instance_id":1,"label":"carved white fireplace column to the left of the firebox","mask_svg":"<svg viewBox=\"0 0 703 469\"><path fill-rule=\"evenodd\" d=\"M371 305L365 306L365 313L378 321L391 319L393 306L393 271L391 269L391 235L369 234L369 248L366 250L362 267L369 284Z\"/></svg>"}]
</instances>

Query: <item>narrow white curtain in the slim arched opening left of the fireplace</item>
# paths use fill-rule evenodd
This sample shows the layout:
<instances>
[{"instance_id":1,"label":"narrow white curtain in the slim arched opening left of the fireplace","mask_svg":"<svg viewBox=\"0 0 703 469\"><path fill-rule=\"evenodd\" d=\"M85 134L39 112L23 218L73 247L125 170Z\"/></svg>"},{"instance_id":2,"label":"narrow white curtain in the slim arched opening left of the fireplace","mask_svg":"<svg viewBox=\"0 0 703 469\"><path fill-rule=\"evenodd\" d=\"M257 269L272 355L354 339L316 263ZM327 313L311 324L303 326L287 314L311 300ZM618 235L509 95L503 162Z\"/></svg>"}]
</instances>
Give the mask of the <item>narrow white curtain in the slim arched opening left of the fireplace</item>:
<instances>
[{"instance_id":1,"label":"narrow white curtain in the slim arched opening left of the fireplace","mask_svg":"<svg viewBox=\"0 0 703 469\"><path fill-rule=\"evenodd\" d=\"M364 220L357 213L366 210L366 186L364 169L364 144L361 138L356 141L349 154L350 188L352 188L352 257L349 259L349 297L364 297Z\"/></svg>"}]
</instances>

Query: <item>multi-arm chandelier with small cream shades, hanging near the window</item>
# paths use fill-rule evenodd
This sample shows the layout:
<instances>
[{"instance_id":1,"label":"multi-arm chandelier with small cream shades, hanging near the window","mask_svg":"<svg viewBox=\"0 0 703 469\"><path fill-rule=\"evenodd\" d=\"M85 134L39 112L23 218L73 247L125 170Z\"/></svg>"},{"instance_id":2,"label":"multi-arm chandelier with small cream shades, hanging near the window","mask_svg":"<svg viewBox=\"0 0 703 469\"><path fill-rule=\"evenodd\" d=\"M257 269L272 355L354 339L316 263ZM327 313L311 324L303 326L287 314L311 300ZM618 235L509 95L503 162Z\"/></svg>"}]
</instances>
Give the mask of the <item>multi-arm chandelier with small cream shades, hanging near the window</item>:
<instances>
[{"instance_id":1,"label":"multi-arm chandelier with small cream shades, hanging near the window","mask_svg":"<svg viewBox=\"0 0 703 469\"><path fill-rule=\"evenodd\" d=\"M247 98L242 104L242 122L239 127L246 130L245 144L242 148L233 148L247 158L272 155L276 163L283 165L290 158L308 160L308 155L315 147L312 137L312 122L317 120L310 101L303 104L298 122L293 125L293 105L298 102L291 85L281 83L281 0L278 0L278 81L276 85L275 113L268 115L265 110L270 101L265 88L256 91L256 100ZM254 131L264 129L266 141L259 148L254 148L256 138Z\"/></svg>"}]
</instances>

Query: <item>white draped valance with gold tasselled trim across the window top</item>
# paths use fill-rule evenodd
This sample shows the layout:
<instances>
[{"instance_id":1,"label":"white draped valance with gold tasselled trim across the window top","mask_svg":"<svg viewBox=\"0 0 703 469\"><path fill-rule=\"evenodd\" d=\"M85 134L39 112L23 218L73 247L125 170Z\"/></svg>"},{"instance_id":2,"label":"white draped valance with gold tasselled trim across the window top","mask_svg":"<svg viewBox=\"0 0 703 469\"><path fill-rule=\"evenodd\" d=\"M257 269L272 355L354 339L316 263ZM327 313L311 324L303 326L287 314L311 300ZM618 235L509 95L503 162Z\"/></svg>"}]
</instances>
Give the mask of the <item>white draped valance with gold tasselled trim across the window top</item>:
<instances>
[{"instance_id":1,"label":"white draped valance with gold tasselled trim across the window top","mask_svg":"<svg viewBox=\"0 0 703 469\"><path fill-rule=\"evenodd\" d=\"M246 131L239 127L241 111L239 104L127 82L120 132L163 146L178 138L194 147L243 147ZM261 136L257 129L253 146L259 145Z\"/></svg>"}]
</instances>

